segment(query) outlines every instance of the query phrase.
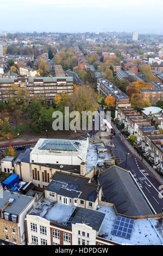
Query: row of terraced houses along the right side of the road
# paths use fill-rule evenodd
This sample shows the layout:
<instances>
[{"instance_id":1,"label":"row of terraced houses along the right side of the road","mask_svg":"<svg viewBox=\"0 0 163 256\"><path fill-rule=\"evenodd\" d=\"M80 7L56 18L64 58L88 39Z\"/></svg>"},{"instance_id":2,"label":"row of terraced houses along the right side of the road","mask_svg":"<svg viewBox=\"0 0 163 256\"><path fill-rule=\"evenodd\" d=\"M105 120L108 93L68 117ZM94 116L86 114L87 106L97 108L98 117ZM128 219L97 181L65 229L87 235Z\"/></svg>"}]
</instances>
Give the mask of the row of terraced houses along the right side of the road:
<instances>
[{"instance_id":1,"label":"row of terraced houses along the right side of the road","mask_svg":"<svg viewBox=\"0 0 163 256\"><path fill-rule=\"evenodd\" d=\"M153 168L163 173L163 135L151 125L151 120L144 119L130 106L118 106L117 118L119 124L124 124L123 131L136 136L137 148L142 150Z\"/></svg>"}]
</instances>

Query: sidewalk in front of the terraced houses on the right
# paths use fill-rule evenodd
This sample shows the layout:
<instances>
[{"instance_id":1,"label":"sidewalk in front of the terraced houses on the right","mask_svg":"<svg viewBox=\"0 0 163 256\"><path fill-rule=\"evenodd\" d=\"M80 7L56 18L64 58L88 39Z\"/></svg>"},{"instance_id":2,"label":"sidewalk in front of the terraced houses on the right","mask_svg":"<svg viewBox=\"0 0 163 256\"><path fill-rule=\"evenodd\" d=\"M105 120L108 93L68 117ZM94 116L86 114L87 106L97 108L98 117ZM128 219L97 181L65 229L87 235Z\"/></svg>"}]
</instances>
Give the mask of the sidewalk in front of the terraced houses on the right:
<instances>
[{"instance_id":1,"label":"sidewalk in front of the terraced houses on the right","mask_svg":"<svg viewBox=\"0 0 163 256\"><path fill-rule=\"evenodd\" d=\"M134 147L127 141L126 137L124 137L124 135L122 135L121 131L118 130L117 126L112 122L111 123L112 127L114 127L115 131L119 133L120 138L122 140L122 142L124 144L126 144L127 148L131 151L131 153L137 158L139 159L139 162L141 162L149 171L149 173L151 173L151 175L155 178L156 181L159 182L159 184L163 184L163 178L155 172L155 170L152 168L152 166L145 160L142 160L142 157L139 156L139 154L137 153L137 151L134 149Z\"/></svg>"}]
</instances>

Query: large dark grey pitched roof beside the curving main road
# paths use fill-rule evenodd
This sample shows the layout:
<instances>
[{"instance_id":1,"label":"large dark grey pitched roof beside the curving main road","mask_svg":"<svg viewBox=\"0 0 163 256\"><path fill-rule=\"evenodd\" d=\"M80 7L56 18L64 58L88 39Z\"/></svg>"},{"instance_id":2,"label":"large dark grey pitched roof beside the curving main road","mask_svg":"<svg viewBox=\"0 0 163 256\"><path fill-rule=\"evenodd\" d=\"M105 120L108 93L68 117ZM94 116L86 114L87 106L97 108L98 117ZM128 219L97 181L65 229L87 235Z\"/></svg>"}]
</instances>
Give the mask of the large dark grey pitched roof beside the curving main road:
<instances>
[{"instance_id":1,"label":"large dark grey pitched roof beside the curving main road","mask_svg":"<svg viewBox=\"0 0 163 256\"><path fill-rule=\"evenodd\" d=\"M129 172L113 166L99 175L106 202L115 205L118 214L139 216L153 214Z\"/></svg>"}]
</instances>

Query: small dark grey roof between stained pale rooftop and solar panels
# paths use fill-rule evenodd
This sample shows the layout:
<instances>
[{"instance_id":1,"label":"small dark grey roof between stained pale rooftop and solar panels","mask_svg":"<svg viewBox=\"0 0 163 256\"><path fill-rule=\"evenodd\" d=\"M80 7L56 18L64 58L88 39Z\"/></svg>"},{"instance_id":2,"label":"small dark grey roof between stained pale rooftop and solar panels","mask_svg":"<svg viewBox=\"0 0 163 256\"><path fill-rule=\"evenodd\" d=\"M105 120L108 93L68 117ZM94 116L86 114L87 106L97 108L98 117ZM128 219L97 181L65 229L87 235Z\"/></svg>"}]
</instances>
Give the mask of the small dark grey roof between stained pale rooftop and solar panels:
<instances>
[{"instance_id":1,"label":"small dark grey roof between stained pale rooftop and solar panels","mask_svg":"<svg viewBox=\"0 0 163 256\"><path fill-rule=\"evenodd\" d=\"M85 222L85 224L89 225L89 227L92 227L92 229L98 231L101 227L104 217L105 214L102 212L79 208L73 220L71 221L71 224Z\"/></svg>"}]
</instances>

